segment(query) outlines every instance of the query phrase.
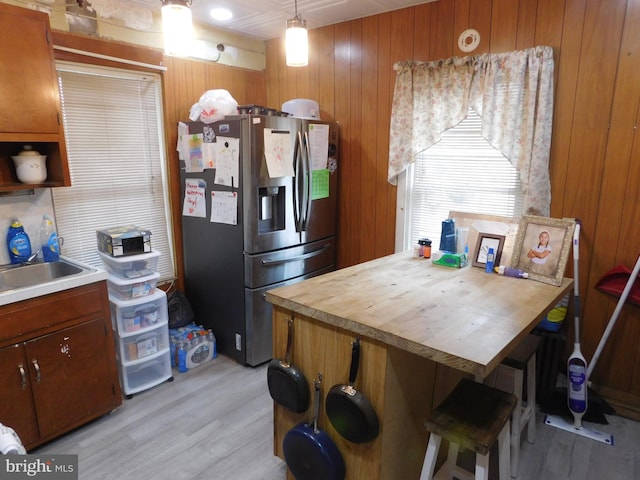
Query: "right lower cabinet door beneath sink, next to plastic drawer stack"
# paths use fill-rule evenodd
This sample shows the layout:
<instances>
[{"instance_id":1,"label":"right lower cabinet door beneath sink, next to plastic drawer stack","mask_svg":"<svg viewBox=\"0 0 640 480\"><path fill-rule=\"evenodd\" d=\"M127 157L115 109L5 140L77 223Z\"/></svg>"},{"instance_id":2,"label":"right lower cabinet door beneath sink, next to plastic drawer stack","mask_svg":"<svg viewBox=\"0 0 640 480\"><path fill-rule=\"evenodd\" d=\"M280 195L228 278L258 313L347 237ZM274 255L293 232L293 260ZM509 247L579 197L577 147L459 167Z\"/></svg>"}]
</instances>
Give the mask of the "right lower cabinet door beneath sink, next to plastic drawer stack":
<instances>
[{"instance_id":1,"label":"right lower cabinet door beneath sink, next to plastic drawer stack","mask_svg":"<svg viewBox=\"0 0 640 480\"><path fill-rule=\"evenodd\" d=\"M25 344L42 437L73 428L119 403L111 340L102 318ZM111 346L113 348L113 346Z\"/></svg>"}]
</instances>

